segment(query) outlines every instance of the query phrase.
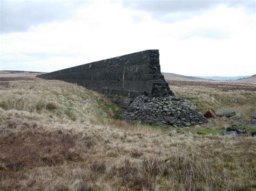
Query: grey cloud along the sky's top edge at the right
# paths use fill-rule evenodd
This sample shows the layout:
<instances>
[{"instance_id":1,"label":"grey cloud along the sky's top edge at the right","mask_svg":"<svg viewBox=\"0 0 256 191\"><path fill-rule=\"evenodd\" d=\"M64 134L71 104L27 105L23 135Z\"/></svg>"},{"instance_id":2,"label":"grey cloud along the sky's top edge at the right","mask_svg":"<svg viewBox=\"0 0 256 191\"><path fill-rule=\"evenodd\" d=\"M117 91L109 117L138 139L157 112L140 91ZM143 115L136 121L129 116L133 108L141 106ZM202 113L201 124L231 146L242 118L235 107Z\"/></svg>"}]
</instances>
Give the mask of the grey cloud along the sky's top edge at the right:
<instances>
[{"instance_id":1,"label":"grey cloud along the sky's top edge at the right","mask_svg":"<svg viewBox=\"0 0 256 191\"><path fill-rule=\"evenodd\" d=\"M151 13L154 19L164 22L176 22L182 19L201 15L204 11L214 9L216 6L228 8L242 8L255 12L254 0L124 0L123 6Z\"/></svg>"}]
</instances>

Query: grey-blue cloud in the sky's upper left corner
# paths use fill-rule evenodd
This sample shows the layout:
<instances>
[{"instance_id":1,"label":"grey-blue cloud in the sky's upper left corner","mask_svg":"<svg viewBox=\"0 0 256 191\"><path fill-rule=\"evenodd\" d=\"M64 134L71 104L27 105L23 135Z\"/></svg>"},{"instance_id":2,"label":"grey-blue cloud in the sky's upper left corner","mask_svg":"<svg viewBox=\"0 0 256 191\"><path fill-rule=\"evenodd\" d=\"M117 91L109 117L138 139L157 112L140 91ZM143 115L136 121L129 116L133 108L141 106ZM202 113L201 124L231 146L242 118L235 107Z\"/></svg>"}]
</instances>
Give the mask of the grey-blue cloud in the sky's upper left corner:
<instances>
[{"instance_id":1,"label":"grey-blue cloud in the sky's upper left corner","mask_svg":"<svg viewBox=\"0 0 256 191\"><path fill-rule=\"evenodd\" d=\"M72 17L79 1L6 1L1 0L1 33L26 31L42 23Z\"/></svg>"}]
</instances>

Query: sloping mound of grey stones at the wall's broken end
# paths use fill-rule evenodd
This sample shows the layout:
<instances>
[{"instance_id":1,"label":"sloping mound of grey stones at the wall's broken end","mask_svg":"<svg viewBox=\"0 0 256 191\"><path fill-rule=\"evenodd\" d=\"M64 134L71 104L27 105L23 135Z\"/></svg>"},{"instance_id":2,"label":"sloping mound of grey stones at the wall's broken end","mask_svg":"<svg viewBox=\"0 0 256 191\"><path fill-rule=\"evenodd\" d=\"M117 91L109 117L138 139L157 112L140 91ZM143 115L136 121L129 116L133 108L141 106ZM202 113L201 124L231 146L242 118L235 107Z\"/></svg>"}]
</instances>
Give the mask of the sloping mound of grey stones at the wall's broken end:
<instances>
[{"instance_id":1,"label":"sloping mound of grey stones at the wall's broken end","mask_svg":"<svg viewBox=\"0 0 256 191\"><path fill-rule=\"evenodd\" d=\"M127 121L180 128L208 122L189 100L171 95L152 98L138 96L124 111L123 117Z\"/></svg>"}]
</instances>

